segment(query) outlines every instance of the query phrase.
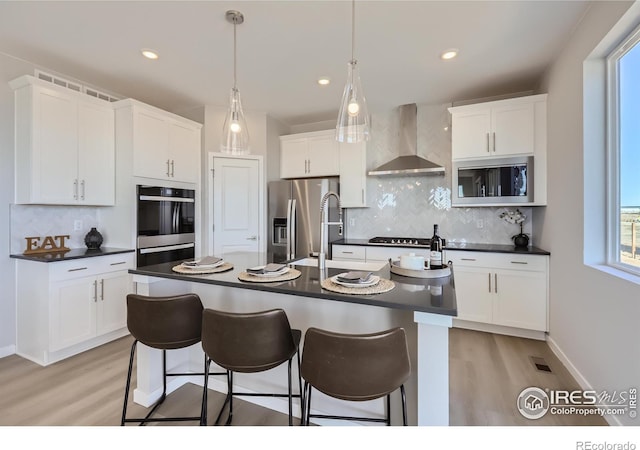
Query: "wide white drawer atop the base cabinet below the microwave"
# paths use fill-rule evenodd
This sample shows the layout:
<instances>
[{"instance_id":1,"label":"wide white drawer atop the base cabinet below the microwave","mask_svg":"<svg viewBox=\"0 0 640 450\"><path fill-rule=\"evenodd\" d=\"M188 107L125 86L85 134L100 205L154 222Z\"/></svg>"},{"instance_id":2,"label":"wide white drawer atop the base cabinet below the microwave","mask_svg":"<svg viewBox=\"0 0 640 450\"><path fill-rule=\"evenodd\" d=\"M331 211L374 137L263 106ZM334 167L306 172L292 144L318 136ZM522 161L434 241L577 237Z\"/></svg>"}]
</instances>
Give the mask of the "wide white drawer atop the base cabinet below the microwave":
<instances>
[{"instance_id":1,"label":"wide white drawer atop the base cabinet below the microwave","mask_svg":"<svg viewBox=\"0 0 640 450\"><path fill-rule=\"evenodd\" d=\"M548 256L446 250L445 258L456 266L546 271Z\"/></svg>"}]
</instances>

